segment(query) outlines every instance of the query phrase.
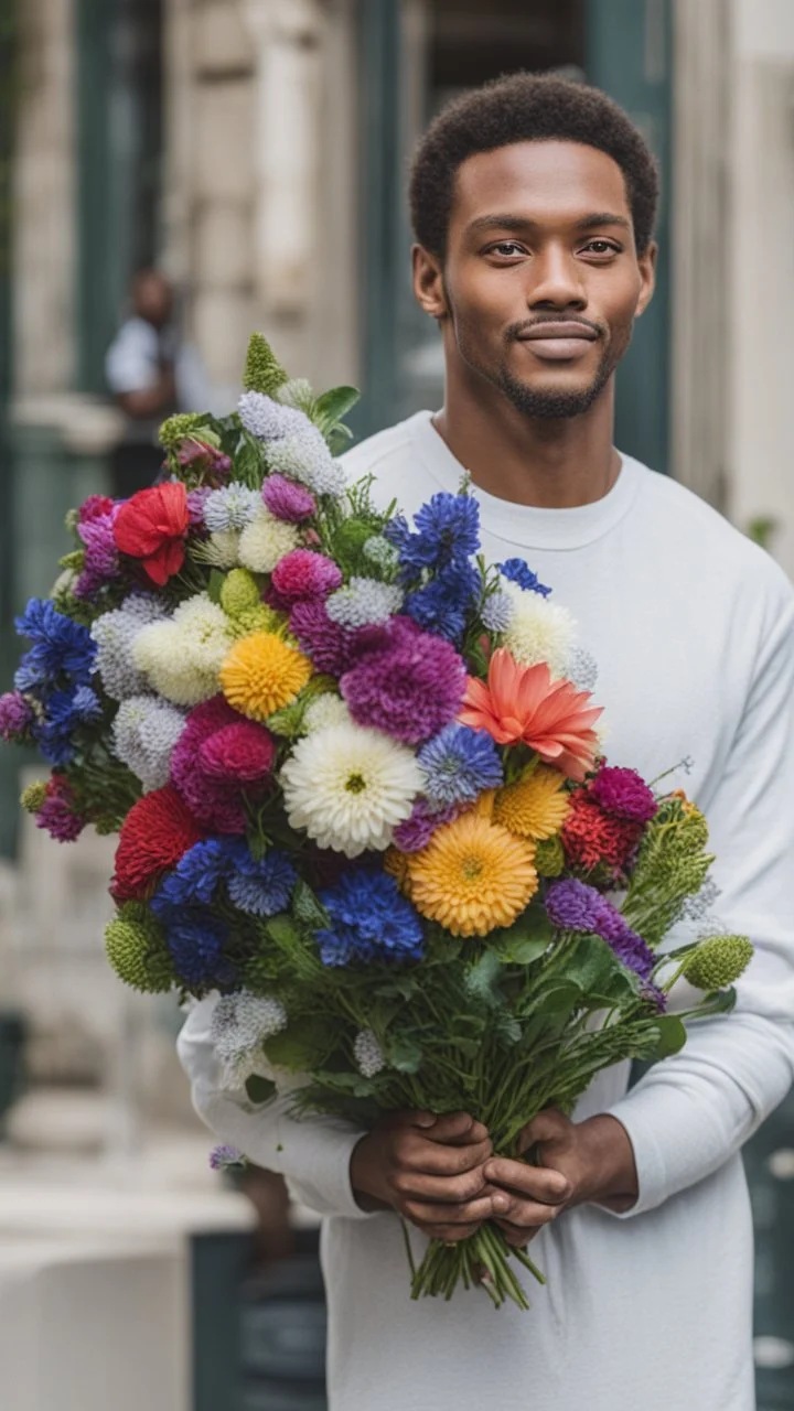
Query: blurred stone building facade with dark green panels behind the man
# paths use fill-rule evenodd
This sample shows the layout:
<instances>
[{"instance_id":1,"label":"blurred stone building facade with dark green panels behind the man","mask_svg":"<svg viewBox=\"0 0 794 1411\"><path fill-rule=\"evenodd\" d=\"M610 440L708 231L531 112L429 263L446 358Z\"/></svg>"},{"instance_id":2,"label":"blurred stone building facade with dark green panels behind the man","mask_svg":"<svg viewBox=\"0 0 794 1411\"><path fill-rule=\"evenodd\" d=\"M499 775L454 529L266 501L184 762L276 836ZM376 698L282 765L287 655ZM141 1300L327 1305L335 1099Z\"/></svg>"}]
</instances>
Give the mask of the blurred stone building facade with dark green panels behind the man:
<instances>
[{"instance_id":1,"label":"blurred stone building facade with dark green panels behind the man","mask_svg":"<svg viewBox=\"0 0 794 1411\"><path fill-rule=\"evenodd\" d=\"M295 374L363 387L360 436L438 405L438 336L410 291L408 154L449 96L519 68L605 87L663 168L660 288L620 373L617 444L794 571L791 0L17 0L0 58L4 683L13 612L48 590L66 508L106 485L103 357L134 270L175 281L230 399L260 327ZM85 993L64 981L78 951L103 985L106 859L81 844L42 903L10 756L0 961L3 927L24 934L44 968L18 989L47 1027L55 996L73 1015ZM73 950L54 958L69 913Z\"/></svg>"}]
</instances>

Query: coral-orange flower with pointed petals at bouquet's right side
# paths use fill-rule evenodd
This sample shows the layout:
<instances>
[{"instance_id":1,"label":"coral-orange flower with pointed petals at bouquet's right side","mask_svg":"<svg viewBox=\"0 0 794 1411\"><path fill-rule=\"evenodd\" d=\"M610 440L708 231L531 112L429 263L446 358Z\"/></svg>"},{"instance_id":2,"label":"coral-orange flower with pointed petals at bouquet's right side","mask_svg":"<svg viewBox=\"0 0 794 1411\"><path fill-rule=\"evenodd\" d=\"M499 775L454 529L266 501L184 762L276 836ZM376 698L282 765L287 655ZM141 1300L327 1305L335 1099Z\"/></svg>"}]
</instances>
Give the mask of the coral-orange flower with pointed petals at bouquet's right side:
<instances>
[{"instance_id":1,"label":"coral-orange flower with pointed petals at bouquet's right side","mask_svg":"<svg viewBox=\"0 0 794 1411\"><path fill-rule=\"evenodd\" d=\"M523 741L569 779L583 780L593 768L599 741L593 729L602 714L589 691L552 680L545 662L519 666L503 646L492 656L487 684L469 676L458 720L486 729L497 745Z\"/></svg>"}]
</instances>

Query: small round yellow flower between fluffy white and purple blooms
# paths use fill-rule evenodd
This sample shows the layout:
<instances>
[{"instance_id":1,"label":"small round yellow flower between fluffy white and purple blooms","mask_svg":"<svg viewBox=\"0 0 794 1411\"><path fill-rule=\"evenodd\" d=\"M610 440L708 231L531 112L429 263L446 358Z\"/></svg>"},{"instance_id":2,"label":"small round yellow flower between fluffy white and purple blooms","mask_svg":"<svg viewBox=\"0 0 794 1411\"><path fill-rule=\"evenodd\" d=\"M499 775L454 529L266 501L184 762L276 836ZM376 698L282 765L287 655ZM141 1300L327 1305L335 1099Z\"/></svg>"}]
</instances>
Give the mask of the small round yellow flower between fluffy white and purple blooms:
<instances>
[{"instance_id":1,"label":"small round yellow flower between fluffy white and purple blooms","mask_svg":"<svg viewBox=\"0 0 794 1411\"><path fill-rule=\"evenodd\" d=\"M230 706L249 720L267 720L295 698L312 673L308 656L273 632L237 642L220 667L220 687Z\"/></svg>"}]
</instances>

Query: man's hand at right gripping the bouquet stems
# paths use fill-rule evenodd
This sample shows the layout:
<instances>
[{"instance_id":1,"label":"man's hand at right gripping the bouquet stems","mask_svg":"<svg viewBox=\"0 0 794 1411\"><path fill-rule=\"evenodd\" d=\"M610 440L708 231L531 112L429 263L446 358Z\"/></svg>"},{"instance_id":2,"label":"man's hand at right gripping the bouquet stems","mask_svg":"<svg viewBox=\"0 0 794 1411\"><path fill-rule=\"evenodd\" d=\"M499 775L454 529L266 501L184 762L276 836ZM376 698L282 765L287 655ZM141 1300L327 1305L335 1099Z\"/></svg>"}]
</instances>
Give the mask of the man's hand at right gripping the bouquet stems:
<instances>
[{"instance_id":1,"label":"man's hand at right gripping the bouquet stems","mask_svg":"<svg viewBox=\"0 0 794 1411\"><path fill-rule=\"evenodd\" d=\"M606 1113L571 1122L541 1112L521 1133L521 1151L535 1149L541 1165L492 1157L485 1178L494 1187L494 1219L510 1245L526 1245L561 1211L598 1201L627 1211L637 1199L637 1170L626 1129Z\"/></svg>"}]
</instances>

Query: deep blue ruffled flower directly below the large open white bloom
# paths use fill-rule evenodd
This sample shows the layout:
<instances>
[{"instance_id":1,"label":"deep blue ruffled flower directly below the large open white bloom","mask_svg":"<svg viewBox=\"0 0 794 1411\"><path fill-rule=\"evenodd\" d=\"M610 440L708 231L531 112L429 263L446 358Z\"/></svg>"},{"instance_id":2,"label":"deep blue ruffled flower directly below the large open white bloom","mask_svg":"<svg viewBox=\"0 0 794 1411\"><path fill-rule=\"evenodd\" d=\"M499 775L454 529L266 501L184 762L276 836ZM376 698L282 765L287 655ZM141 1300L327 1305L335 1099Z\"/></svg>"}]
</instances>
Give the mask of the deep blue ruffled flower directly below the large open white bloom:
<instances>
[{"instance_id":1,"label":"deep blue ruffled flower directly below the large open white bloom","mask_svg":"<svg viewBox=\"0 0 794 1411\"><path fill-rule=\"evenodd\" d=\"M316 933L324 965L421 959L422 923L387 872L352 868L319 900L331 917Z\"/></svg>"}]
</instances>

